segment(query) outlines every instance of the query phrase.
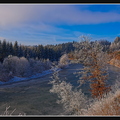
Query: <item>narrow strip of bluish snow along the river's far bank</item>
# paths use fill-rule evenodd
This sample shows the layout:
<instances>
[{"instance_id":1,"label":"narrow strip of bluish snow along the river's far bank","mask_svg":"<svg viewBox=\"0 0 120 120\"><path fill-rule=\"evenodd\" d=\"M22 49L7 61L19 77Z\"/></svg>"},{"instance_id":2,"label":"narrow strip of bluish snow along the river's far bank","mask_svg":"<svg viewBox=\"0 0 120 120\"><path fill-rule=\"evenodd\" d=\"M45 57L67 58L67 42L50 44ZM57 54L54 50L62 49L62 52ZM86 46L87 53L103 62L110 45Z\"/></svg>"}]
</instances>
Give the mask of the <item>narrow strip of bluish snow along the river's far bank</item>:
<instances>
[{"instance_id":1,"label":"narrow strip of bluish snow along the river's far bank","mask_svg":"<svg viewBox=\"0 0 120 120\"><path fill-rule=\"evenodd\" d=\"M19 82L19 81L25 81L25 80L30 80L30 79L34 79L34 78L39 78L39 77L43 77L45 75L48 75L50 73L53 73L53 69L56 69L57 71L60 71L61 69L60 68L52 68L50 70L46 70L46 71L43 71L42 73L37 73L35 75L32 75L30 77L26 77L26 78L21 78L21 77L16 77L14 76L12 79L10 79L9 81L7 82L1 82L0 81L0 85L5 85L5 84L9 84L9 83L15 83L15 82Z\"/></svg>"}]
</instances>

